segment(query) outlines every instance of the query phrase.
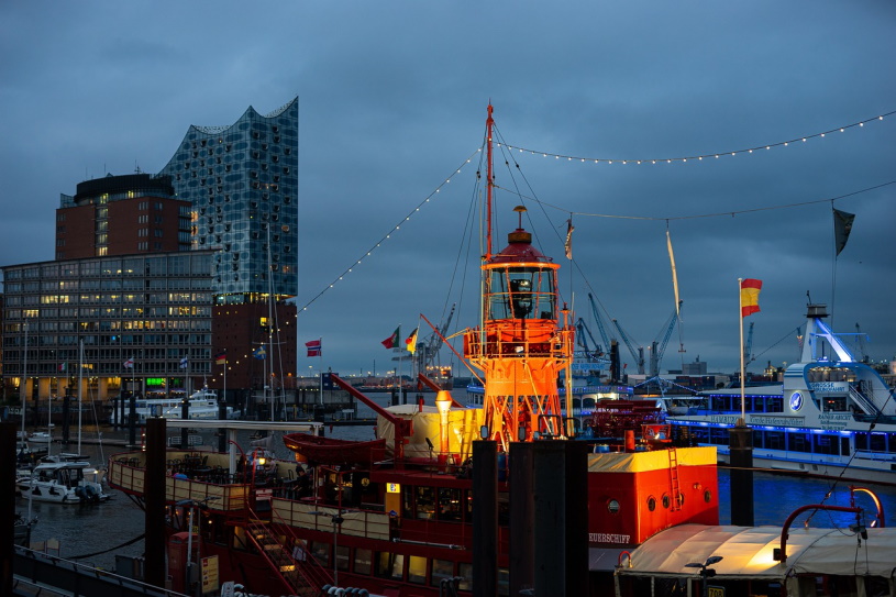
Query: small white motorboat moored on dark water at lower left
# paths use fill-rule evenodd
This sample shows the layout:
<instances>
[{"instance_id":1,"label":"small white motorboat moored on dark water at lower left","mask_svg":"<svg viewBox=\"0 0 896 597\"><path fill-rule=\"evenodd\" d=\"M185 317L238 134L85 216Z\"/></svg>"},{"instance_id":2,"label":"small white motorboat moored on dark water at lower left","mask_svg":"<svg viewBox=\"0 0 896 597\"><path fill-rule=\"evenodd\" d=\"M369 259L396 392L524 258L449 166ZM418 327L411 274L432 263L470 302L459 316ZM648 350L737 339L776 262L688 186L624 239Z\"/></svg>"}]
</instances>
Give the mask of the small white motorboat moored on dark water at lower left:
<instances>
[{"instance_id":1,"label":"small white motorboat moored on dark water at lower left","mask_svg":"<svg viewBox=\"0 0 896 597\"><path fill-rule=\"evenodd\" d=\"M101 473L86 461L44 462L15 479L15 490L25 499L55 504L104 501Z\"/></svg>"}]
</instances>

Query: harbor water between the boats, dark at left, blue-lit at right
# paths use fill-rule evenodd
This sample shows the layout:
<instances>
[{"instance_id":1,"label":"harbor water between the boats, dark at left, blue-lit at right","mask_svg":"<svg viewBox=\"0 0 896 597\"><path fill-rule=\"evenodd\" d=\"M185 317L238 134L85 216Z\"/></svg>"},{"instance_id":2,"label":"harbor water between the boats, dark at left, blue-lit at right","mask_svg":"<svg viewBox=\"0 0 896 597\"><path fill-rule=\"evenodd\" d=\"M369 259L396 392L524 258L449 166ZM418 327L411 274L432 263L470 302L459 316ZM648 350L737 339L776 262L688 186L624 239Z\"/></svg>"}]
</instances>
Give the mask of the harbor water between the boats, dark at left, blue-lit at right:
<instances>
[{"instance_id":1,"label":"harbor water between the boats, dark at left, blue-lit at right","mask_svg":"<svg viewBox=\"0 0 896 597\"><path fill-rule=\"evenodd\" d=\"M372 413L358 412L361 417L365 414L370 416ZM97 428L85 428L81 433L81 453L88 456L92 464L108 461L114 454L125 451L121 446L121 441L128 438L126 431L113 430L109 427L102 427L101 431L103 442L118 441L119 445L97 443ZM372 424L327 425L324 431L328 435L336 438L374 439ZM168 434L174 435L176 432L169 430ZM67 447L54 443L52 450L54 452L76 451L77 434L73 433L71 436L73 443ZM237 441L242 446L247 447L251 438L246 433L244 438L237 438ZM203 435L203 443L217 446L218 439L212 433L208 433L208 436ZM278 456L290 457L279 434L275 434L274 451ZM834 483L829 479L767 472L754 473L753 480L754 523L756 526L779 527L790 512L809 504L851 505L848 482ZM896 520L894 518L896 517L896 487L873 484L865 484L863 487L870 488L881 498L886 518ZM16 511L26 516L30 509L31 516L38 519L32 531L32 544L37 544L37 546L45 544L51 550L58 544L58 551L52 551L52 553L114 571L117 554L128 557L143 555L144 513L126 495L112 489L107 490L112 495L109 501L90 505L57 505L36 501L29 504L27 500L18 498ZM826 497L829 493L830 496ZM719 469L719 500L721 505L720 522L729 524L731 521L730 477L726 468ZM871 523L875 515L875 507L870 496L861 491L856 493L855 505L865 509L865 522ZM845 528L855 522L855 516L852 513L817 511L801 515L794 527L803 524L809 517L812 527ZM124 559L118 560L124 563Z\"/></svg>"}]
</instances>

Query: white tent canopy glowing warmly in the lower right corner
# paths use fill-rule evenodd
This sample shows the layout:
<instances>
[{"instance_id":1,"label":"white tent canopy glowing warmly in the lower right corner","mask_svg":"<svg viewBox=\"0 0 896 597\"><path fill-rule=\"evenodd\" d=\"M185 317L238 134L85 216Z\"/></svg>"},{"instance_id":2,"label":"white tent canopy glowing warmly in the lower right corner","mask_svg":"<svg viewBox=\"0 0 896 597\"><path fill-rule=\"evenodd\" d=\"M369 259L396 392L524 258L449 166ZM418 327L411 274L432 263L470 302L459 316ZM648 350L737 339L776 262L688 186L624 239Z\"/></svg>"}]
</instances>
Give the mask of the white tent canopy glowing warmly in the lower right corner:
<instances>
[{"instance_id":1,"label":"white tent canopy glowing warmly in the lower right corner","mask_svg":"<svg viewBox=\"0 0 896 597\"><path fill-rule=\"evenodd\" d=\"M619 575L693 577L689 563L722 560L710 567L716 578L781 579L795 575L883 576L896 573L896 529L867 529L867 539L848 529L789 529L787 561L776 562L779 527L682 524L656 533L623 560Z\"/></svg>"}]
</instances>

